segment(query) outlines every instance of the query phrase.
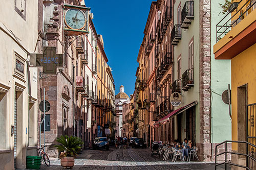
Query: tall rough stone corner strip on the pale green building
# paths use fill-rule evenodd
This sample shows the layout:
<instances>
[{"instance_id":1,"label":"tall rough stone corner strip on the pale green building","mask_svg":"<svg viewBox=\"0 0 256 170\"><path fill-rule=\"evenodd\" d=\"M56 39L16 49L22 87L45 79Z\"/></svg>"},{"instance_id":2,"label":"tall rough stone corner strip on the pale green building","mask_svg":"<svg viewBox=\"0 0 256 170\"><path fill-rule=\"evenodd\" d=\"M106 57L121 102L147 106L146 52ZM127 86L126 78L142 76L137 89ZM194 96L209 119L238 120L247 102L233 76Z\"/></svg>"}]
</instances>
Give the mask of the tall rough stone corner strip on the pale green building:
<instances>
[{"instance_id":1,"label":"tall rough stone corner strip on the pale green building","mask_svg":"<svg viewBox=\"0 0 256 170\"><path fill-rule=\"evenodd\" d=\"M203 161L210 161L210 0L200 0L200 151Z\"/></svg>"}]
</instances>

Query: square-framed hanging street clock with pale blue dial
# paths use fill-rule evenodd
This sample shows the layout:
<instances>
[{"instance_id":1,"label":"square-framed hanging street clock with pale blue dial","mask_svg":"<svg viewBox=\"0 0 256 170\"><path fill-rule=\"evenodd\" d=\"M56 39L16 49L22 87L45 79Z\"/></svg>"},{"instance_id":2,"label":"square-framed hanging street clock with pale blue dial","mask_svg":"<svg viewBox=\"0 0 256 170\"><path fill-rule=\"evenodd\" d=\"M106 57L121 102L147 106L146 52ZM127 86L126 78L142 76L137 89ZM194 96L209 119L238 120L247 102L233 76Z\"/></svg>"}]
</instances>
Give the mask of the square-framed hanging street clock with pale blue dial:
<instances>
[{"instance_id":1,"label":"square-framed hanging street clock with pale blue dial","mask_svg":"<svg viewBox=\"0 0 256 170\"><path fill-rule=\"evenodd\" d=\"M65 4L63 8L64 31L68 36L89 33L89 11L91 8Z\"/></svg>"}]
</instances>

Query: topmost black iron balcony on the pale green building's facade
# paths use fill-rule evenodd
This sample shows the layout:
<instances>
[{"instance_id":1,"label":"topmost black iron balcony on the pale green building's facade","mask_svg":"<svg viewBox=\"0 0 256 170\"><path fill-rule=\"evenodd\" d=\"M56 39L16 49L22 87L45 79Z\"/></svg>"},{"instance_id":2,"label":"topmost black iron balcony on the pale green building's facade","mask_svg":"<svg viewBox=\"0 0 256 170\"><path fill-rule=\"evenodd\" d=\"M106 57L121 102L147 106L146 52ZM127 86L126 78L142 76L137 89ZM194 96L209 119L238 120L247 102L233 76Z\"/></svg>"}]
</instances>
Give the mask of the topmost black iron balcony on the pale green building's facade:
<instances>
[{"instance_id":1,"label":"topmost black iron balcony on the pale green building's facade","mask_svg":"<svg viewBox=\"0 0 256 170\"><path fill-rule=\"evenodd\" d=\"M194 19L194 1L187 1L181 11L181 28L188 29Z\"/></svg>"}]
</instances>

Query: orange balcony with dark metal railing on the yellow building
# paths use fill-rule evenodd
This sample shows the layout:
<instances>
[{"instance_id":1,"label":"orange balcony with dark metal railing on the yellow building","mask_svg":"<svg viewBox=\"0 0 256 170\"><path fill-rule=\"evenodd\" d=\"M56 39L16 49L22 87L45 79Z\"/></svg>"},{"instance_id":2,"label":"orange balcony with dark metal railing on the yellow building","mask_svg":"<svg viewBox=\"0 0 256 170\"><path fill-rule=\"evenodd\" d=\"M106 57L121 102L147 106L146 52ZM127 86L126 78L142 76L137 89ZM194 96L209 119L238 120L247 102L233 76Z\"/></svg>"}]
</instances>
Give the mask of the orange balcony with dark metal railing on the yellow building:
<instances>
[{"instance_id":1,"label":"orange balcony with dark metal railing on the yellow building","mask_svg":"<svg viewBox=\"0 0 256 170\"><path fill-rule=\"evenodd\" d=\"M256 43L252 38L256 37L256 2L247 0L238 7L231 6L234 8L216 25L215 59L232 59Z\"/></svg>"}]
</instances>

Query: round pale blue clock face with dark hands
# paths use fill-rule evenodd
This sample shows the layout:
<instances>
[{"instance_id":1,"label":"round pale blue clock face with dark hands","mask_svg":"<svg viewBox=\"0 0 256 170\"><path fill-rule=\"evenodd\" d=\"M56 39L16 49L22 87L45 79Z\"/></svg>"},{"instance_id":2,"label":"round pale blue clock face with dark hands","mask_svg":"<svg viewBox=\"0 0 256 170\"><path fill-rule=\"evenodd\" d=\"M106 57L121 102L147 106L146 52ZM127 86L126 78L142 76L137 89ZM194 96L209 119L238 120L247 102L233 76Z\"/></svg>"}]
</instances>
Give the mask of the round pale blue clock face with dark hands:
<instances>
[{"instance_id":1,"label":"round pale blue clock face with dark hands","mask_svg":"<svg viewBox=\"0 0 256 170\"><path fill-rule=\"evenodd\" d=\"M65 22L70 29L80 30L86 26L86 17L78 9L69 9L65 15Z\"/></svg>"}]
</instances>

